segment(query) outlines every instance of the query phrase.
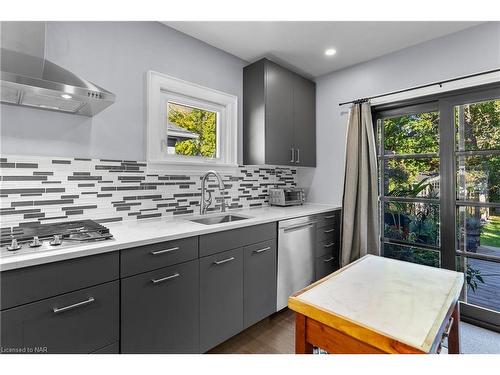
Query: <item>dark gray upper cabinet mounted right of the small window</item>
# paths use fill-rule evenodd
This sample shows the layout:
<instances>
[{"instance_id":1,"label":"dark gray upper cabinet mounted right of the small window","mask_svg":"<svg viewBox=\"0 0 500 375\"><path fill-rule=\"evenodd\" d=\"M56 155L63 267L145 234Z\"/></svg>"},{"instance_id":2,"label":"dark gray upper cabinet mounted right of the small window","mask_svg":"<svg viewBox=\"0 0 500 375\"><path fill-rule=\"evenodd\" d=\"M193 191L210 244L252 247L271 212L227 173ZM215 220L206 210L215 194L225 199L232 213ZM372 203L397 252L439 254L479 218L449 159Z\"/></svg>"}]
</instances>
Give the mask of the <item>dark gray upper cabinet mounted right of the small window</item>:
<instances>
[{"instance_id":1,"label":"dark gray upper cabinet mounted right of the small window","mask_svg":"<svg viewBox=\"0 0 500 375\"><path fill-rule=\"evenodd\" d=\"M316 166L316 84L261 59L243 70L243 162Z\"/></svg>"}]
</instances>

